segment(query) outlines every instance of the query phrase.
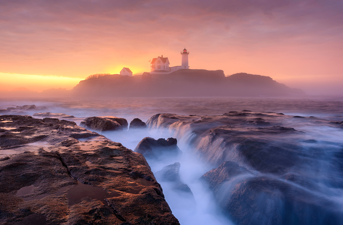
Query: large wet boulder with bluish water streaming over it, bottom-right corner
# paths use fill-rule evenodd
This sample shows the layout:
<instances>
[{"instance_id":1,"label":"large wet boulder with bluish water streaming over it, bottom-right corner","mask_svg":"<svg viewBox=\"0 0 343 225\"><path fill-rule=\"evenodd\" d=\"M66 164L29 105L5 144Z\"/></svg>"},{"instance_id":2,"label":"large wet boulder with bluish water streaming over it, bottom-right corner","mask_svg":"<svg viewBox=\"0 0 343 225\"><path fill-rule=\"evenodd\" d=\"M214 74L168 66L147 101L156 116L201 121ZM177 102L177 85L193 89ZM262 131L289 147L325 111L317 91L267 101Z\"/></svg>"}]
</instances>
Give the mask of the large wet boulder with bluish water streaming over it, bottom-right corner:
<instances>
[{"instance_id":1,"label":"large wet boulder with bluish water streaming over it, bottom-right corner","mask_svg":"<svg viewBox=\"0 0 343 225\"><path fill-rule=\"evenodd\" d=\"M332 210L336 203L292 183L255 176L235 162L224 162L201 180L236 224L341 224L343 218ZM309 184L295 174L286 180Z\"/></svg>"}]
</instances>

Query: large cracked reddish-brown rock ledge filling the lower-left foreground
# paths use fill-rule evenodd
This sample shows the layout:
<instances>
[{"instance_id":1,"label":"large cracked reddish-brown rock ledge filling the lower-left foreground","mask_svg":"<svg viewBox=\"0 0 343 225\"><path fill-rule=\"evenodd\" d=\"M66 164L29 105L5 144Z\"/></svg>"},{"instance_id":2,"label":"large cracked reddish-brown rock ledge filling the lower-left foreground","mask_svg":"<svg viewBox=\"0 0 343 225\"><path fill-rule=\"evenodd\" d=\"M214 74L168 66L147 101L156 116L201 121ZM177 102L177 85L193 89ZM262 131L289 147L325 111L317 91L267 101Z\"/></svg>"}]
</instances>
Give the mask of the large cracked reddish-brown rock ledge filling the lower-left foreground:
<instances>
[{"instance_id":1,"label":"large cracked reddish-brown rock ledge filling the lower-left foreground","mask_svg":"<svg viewBox=\"0 0 343 225\"><path fill-rule=\"evenodd\" d=\"M66 120L0 127L0 224L179 224L141 154Z\"/></svg>"}]
</instances>

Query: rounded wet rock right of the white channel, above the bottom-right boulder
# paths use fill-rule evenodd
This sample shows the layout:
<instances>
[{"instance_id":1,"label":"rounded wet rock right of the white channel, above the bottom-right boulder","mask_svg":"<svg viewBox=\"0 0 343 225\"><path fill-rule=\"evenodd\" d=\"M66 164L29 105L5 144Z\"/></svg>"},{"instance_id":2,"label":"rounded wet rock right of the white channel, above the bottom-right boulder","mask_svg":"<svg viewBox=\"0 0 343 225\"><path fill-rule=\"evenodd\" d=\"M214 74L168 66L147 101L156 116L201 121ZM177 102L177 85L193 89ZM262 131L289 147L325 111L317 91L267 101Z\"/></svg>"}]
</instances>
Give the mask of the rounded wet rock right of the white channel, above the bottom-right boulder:
<instances>
[{"instance_id":1,"label":"rounded wet rock right of the white channel, above the bottom-right boulder","mask_svg":"<svg viewBox=\"0 0 343 225\"><path fill-rule=\"evenodd\" d=\"M283 173L300 160L295 154L299 146L280 139L298 133L303 132L280 126L249 129L222 126L201 139L196 153L214 165L231 160L249 169Z\"/></svg>"}]
</instances>

